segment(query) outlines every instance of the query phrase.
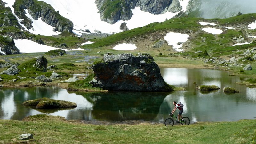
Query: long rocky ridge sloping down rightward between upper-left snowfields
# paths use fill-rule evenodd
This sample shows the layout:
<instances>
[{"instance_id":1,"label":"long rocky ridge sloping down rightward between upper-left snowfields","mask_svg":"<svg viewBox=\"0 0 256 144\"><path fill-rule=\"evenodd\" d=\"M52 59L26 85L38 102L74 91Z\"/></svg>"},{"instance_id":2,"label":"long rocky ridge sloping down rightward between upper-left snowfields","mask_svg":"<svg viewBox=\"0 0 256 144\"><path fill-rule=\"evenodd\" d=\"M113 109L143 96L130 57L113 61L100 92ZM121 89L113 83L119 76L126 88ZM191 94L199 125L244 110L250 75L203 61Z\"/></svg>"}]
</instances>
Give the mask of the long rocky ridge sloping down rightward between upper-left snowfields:
<instances>
[{"instance_id":1,"label":"long rocky ridge sloping down rightward between upper-left snowfields","mask_svg":"<svg viewBox=\"0 0 256 144\"><path fill-rule=\"evenodd\" d=\"M62 17L58 12L56 12L51 5L45 2L40 2L36 0L16 0L14 3L14 13L23 20L24 25L30 29L32 27L32 21L25 16L26 12L24 9L28 9L29 14L33 19L38 19L42 17L42 21L55 27L53 31L68 31L72 32L73 23L64 17Z\"/></svg>"}]
</instances>

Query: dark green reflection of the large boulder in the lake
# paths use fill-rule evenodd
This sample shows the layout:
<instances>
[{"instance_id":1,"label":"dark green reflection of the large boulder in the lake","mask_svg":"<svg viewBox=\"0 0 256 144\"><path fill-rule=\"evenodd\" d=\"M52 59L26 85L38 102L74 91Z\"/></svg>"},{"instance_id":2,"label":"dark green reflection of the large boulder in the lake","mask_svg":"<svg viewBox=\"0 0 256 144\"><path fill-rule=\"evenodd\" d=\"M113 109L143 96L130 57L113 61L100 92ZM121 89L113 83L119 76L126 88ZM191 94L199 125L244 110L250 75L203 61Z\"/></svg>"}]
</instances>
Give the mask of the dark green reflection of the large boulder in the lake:
<instances>
[{"instance_id":1,"label":"dark green reflection of the large boulder in the lake","mask_svg":"<svg viewBox=\"0 0 256 144\"><path fill-rule=\"evenodd\" d=\"M93 102L93 118L108 121L152 121L159 113L164 98L169 94L166 92L79 93L89 102Z\"/></svg>"}]
</instances>

